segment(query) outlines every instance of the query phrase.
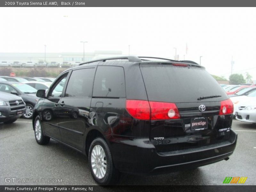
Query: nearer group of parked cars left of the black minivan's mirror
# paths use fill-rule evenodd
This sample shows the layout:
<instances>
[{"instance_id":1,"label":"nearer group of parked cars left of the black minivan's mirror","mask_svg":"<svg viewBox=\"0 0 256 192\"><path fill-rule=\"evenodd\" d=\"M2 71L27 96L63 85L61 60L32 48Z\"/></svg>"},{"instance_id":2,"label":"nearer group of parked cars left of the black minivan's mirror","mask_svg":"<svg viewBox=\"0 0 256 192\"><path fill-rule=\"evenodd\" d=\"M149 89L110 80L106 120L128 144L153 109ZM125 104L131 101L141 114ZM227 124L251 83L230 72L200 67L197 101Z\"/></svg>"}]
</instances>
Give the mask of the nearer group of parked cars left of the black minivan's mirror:
<instances>
[{"instance_id":1,"label":"nearer group of parked cars left of the black minivan's mirror","mask_svg":"<svg viewBox=\"0 0 256 192\"><path fill-rule=\"evenodd\" d=\"M12 123L18 117L32 118L34 106L39 99L36 91L47 91L55 78L47 77L0 77L0 123ZM54 94L59 95L61 84ZM59 91L59 92L58 92Z\"/></svg>"}]
</instances>

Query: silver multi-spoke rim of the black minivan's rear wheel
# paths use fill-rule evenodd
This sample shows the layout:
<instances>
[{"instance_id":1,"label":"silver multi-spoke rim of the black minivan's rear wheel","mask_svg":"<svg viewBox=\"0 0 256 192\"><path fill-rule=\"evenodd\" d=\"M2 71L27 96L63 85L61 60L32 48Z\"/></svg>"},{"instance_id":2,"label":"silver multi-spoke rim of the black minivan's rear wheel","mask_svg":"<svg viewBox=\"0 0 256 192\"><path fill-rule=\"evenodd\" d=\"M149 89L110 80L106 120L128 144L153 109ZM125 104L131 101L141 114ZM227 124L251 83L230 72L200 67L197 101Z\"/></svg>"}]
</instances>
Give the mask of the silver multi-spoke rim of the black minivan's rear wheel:
<instances>
[{"instance_id":1,"label":"silver multi-spoke rim of the black minivan's rear wheel","mask_svg":"<svg viewBox=\"0 0 256 192\"><path fill-rule=\"evenodd\" d=\"M107 158L104 149L100 145L95 145L91 152L91 166L94 175L102 179L107 171Z\"/></svg>"}]
</instances>

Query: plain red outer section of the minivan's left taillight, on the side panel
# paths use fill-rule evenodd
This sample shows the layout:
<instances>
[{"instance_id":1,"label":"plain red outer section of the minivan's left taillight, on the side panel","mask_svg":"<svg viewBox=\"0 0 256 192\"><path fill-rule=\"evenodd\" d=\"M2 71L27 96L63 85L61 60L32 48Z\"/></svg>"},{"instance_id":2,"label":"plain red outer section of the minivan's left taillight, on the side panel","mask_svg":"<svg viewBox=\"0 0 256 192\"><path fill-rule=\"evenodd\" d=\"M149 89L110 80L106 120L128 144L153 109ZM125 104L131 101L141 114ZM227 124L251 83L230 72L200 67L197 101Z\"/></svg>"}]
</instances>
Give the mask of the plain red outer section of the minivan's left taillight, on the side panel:
<instances>
[{"instance_id":1,"label":"plain red outer section of the minivan's left taillight, on the side panel","mask_svg":"<svg viewBox=\"0 0 256 192\"><path fill-rule=\"evenodd\" d=\"M150 107L148 101L126 100L126 110L136 119L150 120Z\"/></svg>"}]
</instances>

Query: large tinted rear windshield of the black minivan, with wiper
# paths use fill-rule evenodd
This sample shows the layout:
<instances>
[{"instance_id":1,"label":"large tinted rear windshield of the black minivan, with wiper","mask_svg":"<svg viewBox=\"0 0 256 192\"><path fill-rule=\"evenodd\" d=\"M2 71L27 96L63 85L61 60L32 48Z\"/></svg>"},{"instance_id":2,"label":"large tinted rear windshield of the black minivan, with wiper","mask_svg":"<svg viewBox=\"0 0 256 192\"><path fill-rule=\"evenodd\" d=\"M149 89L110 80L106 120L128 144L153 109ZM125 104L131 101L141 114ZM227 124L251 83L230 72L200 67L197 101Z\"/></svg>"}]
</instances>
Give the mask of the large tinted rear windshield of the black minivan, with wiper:
<instances>
[{"instance_id":1,"label":"large tinted rear windshield of the black minivan, with wiper","mask_svg":"<svg viewBox=\"0 0 256 192\"><path fill-rule=\"evenodd\" d=\"M140 69L148 100L177 103L228 99L220 84L204 68L150 65ZM197 100L213 95L220 97Z\"/></svg>"}]
</instances>

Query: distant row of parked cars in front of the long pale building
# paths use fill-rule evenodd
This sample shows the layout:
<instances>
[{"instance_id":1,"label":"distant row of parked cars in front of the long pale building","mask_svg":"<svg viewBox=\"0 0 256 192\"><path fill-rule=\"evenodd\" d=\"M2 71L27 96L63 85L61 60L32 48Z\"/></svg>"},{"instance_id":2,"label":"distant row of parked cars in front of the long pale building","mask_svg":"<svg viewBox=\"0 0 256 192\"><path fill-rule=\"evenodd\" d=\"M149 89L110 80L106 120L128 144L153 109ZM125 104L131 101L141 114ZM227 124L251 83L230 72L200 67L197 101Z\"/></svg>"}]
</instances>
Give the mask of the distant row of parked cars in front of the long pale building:
<instances>
[{"instance_id":1,"label":"distant row of parked cars in front of the long pale building","mask_svg":"<svg viewBox=\"0 0 256 192\"><path fill-rule=\"evenodd\" d=\"M81 62L75 62L73 64L69 63L68 61L63 61L62 63L58 63L55 61L52 62L44 62L39 61L37 63L33 61L27 61L26 63L20 61L13 61L12 63L8 61L2 61L0 63L0 67L16 67L16 68L39 68L39 67L61 67L61 68L70 68L79 65Z\"/></svg>"}]
</instances>

